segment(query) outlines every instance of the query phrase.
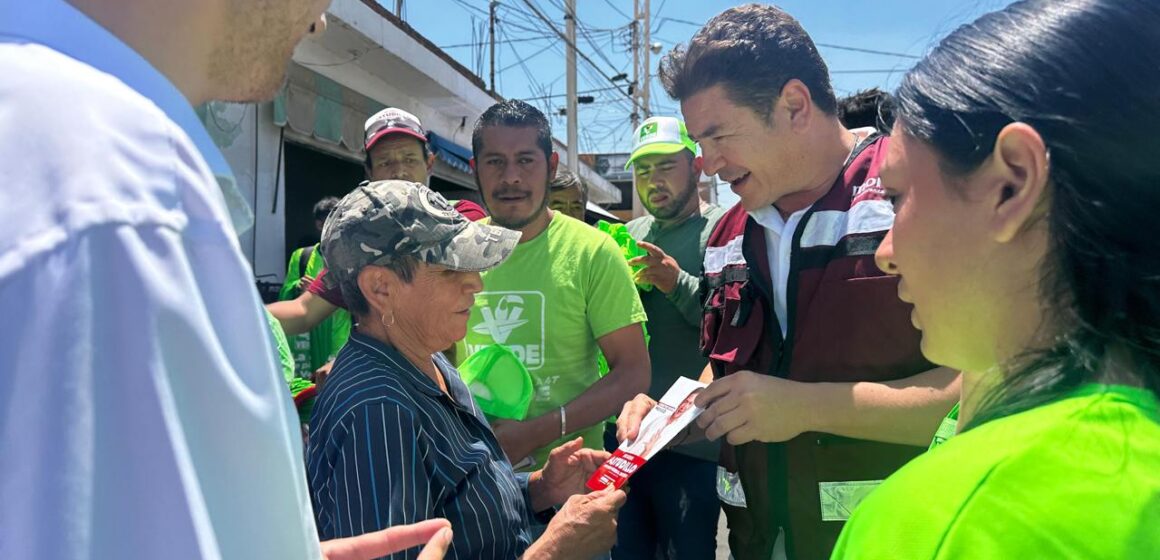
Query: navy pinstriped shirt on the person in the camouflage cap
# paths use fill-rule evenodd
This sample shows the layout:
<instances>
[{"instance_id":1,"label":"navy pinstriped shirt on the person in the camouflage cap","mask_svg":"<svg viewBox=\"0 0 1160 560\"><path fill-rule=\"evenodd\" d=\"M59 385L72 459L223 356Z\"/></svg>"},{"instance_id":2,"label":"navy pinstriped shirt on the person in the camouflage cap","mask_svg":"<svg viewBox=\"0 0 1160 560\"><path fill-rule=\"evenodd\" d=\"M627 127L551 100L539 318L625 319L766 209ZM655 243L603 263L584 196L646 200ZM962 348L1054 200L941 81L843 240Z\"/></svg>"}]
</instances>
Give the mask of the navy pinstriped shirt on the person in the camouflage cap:
<instances>
[{"instance_id":1,"label":"navy pinstriped shirt on the person in the camouflage cap","mask_svg":"<svg viewBox=\"0 0 1160 560\"><path fill-rule=\"evenodd\" d=\"M527 475L513 472L455 368L442 355L435 363L450 397L365 335L353 334L339 352L310 426L319 536L444 517L455 530L447 558L517 558L530 543Z\"/></svg>"}]
</instances>

